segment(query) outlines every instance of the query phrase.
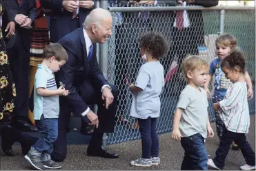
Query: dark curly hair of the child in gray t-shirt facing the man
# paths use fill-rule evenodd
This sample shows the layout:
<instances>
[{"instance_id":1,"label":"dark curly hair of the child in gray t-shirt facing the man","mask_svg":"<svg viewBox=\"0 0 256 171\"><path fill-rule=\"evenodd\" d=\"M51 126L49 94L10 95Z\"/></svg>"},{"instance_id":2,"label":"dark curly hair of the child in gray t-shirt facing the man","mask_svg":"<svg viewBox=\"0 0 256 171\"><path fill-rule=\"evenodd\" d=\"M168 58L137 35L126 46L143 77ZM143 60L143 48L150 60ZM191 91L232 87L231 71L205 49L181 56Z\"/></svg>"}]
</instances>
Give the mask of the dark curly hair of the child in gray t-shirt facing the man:
<instances>
[{"instance_id":1,"label":"dark curly hair of the child in gray t-shirt facing the man","mask_svg":"<svg viewBox=\"0 0 256 171\"><path fill-rule=\"evenodd\" d=\"M141 36L140 47L148 50L153 58L164 58L169 49L169 43L162 34L148 32Z\"/></svg>"}]
</instances>

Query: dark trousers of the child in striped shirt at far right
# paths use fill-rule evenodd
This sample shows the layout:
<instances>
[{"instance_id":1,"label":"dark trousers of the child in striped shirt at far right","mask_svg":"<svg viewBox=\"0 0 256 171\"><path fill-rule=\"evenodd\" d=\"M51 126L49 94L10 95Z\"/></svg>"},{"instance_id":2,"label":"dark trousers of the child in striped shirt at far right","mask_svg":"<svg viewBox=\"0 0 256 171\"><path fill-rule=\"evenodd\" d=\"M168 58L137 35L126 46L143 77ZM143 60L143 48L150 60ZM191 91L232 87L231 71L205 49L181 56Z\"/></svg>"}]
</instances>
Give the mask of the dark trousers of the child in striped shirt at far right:
<instances>
[{"instance_id":1,"label":"dark trousers of the child in striped shirt at far right","mask_svg":"<svg viewBox=\"0 0 256 171\"><path fill-rule=\"evenodd\" d=\"M255 166L255 153L250 147L250 144L248 144L248 141L246 140L246 135L243 133L231 132L226 128L224 128L219 148L216 150L216 156L213 159L213 163L215 163L215 166L217 166L221 170L223 169L226 156L229 152L230 144L232 144L233 141L235 141L235 144L237 144L238 148L241 149L244 159L246 160L246 164L250 166Z\"/></svg>"}]
</instances>

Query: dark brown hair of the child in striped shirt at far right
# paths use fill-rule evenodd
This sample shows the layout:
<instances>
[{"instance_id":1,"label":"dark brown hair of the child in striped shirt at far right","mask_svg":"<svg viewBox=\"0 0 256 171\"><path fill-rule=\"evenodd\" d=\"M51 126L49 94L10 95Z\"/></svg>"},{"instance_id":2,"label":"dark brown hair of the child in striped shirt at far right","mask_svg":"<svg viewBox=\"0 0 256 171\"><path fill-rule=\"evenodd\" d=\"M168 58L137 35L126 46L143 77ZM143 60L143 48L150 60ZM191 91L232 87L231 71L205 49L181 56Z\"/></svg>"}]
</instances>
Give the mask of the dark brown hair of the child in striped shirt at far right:
<instances>
[{"instance_id":1,"label":"dark brown hair of the child in striped shirt at far right","mask_svg":"<svg viewBox=\"0 0 256 171\"><path fill-rule=\"evenodd\" d=\"M222 67L227 67L228 69L235 69L235 67L238 67L240 71L244 73L246 67L246 60L244 58L244 54L241 51L234 49L221 62L221 68Z\"/></svg>"}]
</instances>

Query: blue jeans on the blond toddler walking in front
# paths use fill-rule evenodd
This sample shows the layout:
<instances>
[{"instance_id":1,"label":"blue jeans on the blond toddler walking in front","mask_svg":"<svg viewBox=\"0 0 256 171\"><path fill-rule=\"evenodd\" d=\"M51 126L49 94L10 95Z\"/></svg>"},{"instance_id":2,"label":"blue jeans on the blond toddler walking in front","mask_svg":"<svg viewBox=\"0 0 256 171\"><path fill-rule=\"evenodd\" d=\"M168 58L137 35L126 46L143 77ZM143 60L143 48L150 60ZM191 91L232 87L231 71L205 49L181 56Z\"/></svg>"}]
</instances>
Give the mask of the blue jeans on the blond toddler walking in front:
<instances>
[{"instance_id":1,"label":"blue jeans on the blond toddler walking in front","mask_svg":"<svg viewBox=\"0 0 256 171\"><path fill-rule=\"evenodd\" d=\"M181 170L208 170L204 137L199 133L190 137L181 137L181 146L185 150Z\"/></svg>"}]
</instances>

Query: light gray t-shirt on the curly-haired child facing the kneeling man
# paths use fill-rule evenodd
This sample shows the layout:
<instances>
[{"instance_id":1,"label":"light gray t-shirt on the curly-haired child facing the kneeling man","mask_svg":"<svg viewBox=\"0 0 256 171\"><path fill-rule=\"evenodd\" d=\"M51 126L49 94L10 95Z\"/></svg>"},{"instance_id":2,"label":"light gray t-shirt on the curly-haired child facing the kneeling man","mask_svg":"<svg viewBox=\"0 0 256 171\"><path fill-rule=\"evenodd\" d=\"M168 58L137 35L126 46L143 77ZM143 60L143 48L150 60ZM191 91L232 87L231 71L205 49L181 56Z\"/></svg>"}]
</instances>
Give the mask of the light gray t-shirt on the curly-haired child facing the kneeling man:
<instances>
[{"instance_id":1,"label":"light gray t-shirt on the curly-haired child facing the kneeling man","mask_svg":"<svg viewBox=\"0 0 256 171\"><path fill-rule=\"evenodd\" d=\"M164 87L164 67L159 61L146 62L139 69L135 86L143 91L132 94L130 115L140 119L159 117L159 95Z\"/></svg>"}]
</instances>

